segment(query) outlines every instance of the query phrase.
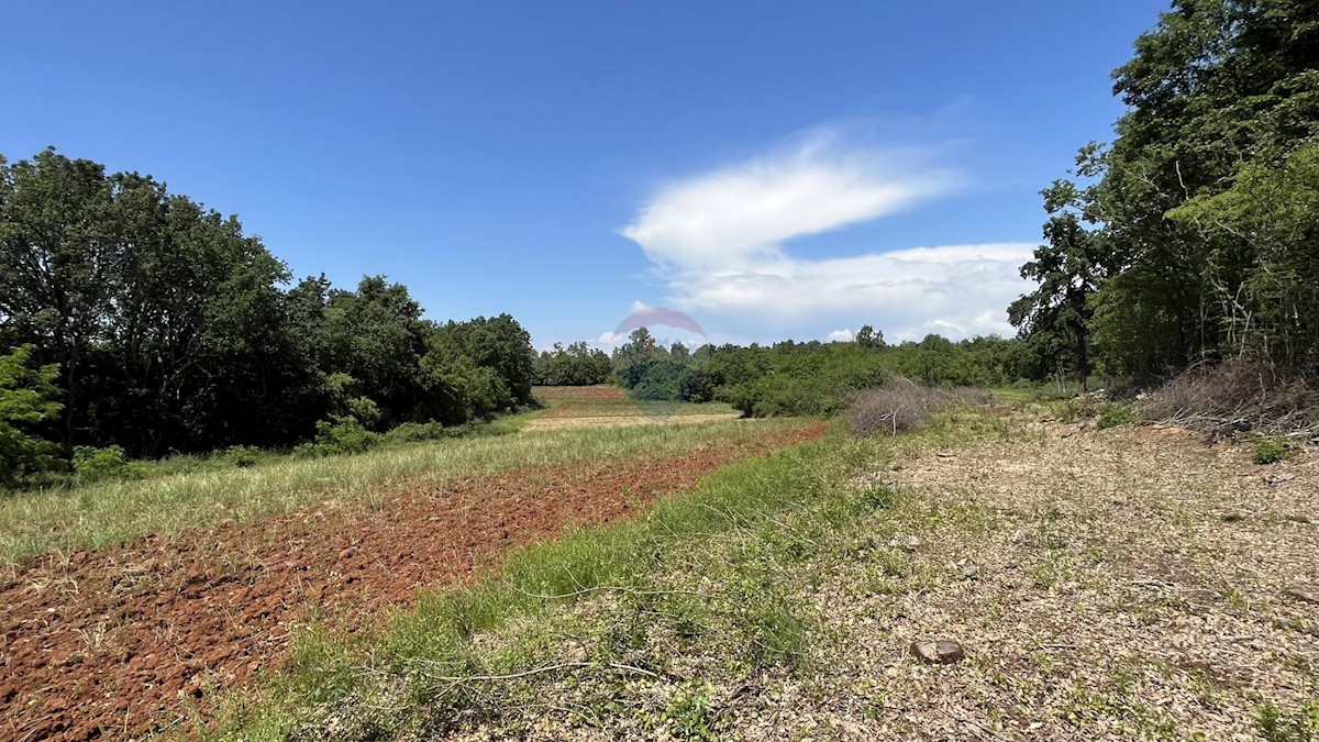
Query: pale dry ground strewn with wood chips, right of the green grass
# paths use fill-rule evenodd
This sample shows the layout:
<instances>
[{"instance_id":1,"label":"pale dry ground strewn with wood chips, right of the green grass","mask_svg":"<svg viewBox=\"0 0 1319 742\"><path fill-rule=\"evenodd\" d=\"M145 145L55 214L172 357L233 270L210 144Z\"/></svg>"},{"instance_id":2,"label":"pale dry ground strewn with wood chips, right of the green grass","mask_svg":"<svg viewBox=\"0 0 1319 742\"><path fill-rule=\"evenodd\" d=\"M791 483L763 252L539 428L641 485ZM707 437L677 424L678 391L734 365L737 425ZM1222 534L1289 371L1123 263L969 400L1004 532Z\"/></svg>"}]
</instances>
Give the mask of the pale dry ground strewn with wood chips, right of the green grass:
<instances>
[{"instance_id":1,"label":"pale dry ground strewn with wood chips, right of the green grass","mask_svg":"<svg viewBox=\"0 0 1319 742\"><path fill-rule=\"evenodd\" d=\"M454 737L1319 738L1319 448L1260 466L1177 428L1010 417L869 449L851 486L892 507L823 536L786 523L803 558L762 549L807 617L799 663L661 631L629 660L656 677L549 673ZM609 610L578 610L574 658Z\"/></svg>"}]
</instances>

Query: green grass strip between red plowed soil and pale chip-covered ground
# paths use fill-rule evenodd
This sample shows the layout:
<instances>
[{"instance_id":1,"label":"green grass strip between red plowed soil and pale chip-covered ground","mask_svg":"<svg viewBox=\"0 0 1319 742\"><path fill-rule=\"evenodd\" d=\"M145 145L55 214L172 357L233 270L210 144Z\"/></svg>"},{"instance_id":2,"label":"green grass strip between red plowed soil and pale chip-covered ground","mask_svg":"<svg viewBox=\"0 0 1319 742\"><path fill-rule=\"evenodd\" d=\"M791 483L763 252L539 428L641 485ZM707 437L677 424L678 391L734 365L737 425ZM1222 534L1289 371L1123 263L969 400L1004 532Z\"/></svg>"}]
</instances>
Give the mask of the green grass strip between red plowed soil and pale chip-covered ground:
<instances>
[{"instance_id":1,"label":"green grass strip between red plowed soil and pale chip-covered ground","mask_svg":"<svg viewBox=\"0 0 1319 742\"><path fill-rule=\"evenodd\" d=\"M973 434L1004 429L991 421ZM930 433L922 445L931 441L942 444ZM582 705L568 726L617 716L609 698L645 697L640 683L671 697L625 717L633 735L706 738L704 681L681 679L801 667L813 618L782 576L831 531L892 504L892 492L857 482L857 467L906 445L834 434L741 462L644 519L525 549L503 572L396 615L380 635L310 630L293 672L261 694L230 697L211 738L286 739L299 729L430 738L491 724L496 737L524 735L538 713L554 716L543 696L565 681L572 698L555 704ZM545 738L572 733L546 729Z\"/></svg>"}]
</instances>

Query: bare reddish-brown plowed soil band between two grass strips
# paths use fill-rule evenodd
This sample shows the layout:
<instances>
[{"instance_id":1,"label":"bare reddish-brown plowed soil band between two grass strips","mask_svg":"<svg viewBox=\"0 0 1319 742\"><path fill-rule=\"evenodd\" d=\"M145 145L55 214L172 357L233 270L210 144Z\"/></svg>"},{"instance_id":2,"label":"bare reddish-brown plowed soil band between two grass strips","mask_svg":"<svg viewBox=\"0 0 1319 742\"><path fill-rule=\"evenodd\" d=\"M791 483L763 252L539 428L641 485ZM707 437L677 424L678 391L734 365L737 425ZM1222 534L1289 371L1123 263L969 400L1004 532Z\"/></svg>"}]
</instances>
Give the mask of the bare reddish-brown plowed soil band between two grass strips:
<instances>
[{"instance_id":1,"label":"bare reddish-brown plowed soil band between two grass strips","mask_svg":"<svg viewBox=\"0 0 1319 742\"><path fill-rule=\"evenodd\" d=\"M368 516L299 511L38 560L0 584L0 738L141 737L190 700L282 665L298 624L372 626L384 606L496 566L512 547L628 518L824 430L524 469L398 492Z\"/></svg>"}]
</instances>

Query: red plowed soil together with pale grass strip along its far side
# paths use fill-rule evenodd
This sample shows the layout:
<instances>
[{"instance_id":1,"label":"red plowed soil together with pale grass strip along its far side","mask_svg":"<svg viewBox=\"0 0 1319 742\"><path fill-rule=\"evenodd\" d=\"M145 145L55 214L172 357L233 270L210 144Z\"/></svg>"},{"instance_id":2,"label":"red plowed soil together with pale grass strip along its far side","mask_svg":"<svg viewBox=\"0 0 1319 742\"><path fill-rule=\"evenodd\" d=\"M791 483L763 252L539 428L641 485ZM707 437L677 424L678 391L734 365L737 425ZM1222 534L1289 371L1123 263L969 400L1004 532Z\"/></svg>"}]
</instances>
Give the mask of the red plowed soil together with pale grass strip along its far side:
<instances>
[{"instance_id":1,"label":"red plowed soil together with pale grass strip along its far side","mask_svg":"<svg viewBox=\"0 0 1319 742\"><path fill-rule=\"evenodd\" d=\"M517 433L11 498L0 737L177 722L207 692L282 667L307 626L368 630L516 545L627 518L823 429Z\"/></svg>"}]
</instances>

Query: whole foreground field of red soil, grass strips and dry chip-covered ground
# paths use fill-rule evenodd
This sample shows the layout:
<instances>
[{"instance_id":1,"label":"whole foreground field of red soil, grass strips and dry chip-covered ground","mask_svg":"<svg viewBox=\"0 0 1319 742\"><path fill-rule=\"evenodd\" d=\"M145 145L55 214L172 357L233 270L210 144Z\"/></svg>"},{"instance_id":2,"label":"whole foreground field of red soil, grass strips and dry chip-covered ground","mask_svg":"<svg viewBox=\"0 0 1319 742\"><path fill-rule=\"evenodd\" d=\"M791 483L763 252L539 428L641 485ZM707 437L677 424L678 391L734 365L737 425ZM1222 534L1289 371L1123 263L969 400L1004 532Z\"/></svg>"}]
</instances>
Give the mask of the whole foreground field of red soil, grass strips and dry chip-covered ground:
<instances>
[{"instance_id":1,"label":"whole foreground field of red soil, grass strips and dry chip-covered ground","mask_svg":"<svg viewBox=\"0 0 1319 742\"><path fill-rule=\"evenodd\" d=\"M1030 409L445 441L50 551L0 586L0 731L1314 739L1314 448Z\"/></svg>"}]
</instances>

